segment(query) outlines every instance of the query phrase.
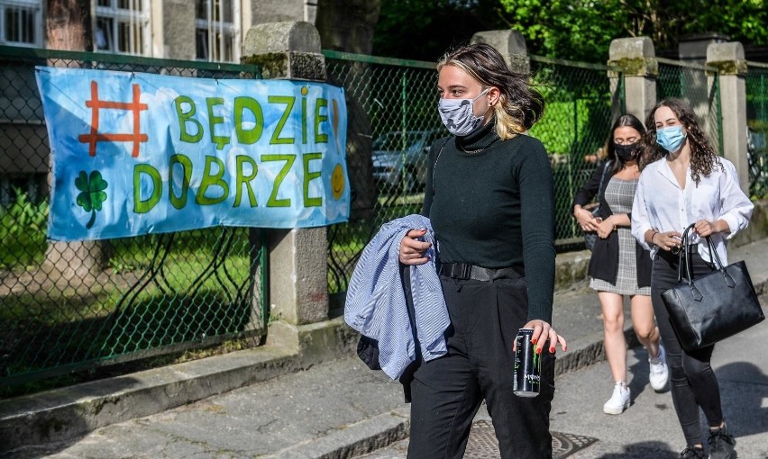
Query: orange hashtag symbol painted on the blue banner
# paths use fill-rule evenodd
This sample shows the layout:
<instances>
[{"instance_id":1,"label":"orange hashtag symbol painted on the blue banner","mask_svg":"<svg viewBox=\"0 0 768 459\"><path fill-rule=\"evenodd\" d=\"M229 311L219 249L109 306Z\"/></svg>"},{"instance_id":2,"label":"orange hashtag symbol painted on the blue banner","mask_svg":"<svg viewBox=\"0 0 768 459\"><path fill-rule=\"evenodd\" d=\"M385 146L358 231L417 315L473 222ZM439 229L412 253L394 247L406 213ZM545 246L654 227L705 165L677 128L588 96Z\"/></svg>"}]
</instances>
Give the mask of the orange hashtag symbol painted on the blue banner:
<instances>
[{"instance_id":1,"label":"orange hashtag symbol painted on the blue banner","mask_svg":"<svg viewBox=\"0 0 768 459\"><path fill-rule=\"evenodd\" d=\"M130 103L114 102L114 101L101 101L98 98L98 85L96 81L91 81L91 100L86 101L86 106L91 109L91 131L89 134L80 134L78 140L81 143L88 144L88 155L96 156L96 143L103 141L110 142L133 142L133 152L131 156L139 156L139 144L140 142L147 141L147 134L142 134L141 125L139 121L139 114L142 110L147 110L146 103L139 103L139 98L142 95L142 91L139 85L133 84L133 101ZM111 108L116 110L127 110L133 112L133 133L130 134L109 134L99 133L98 120L99 110L103 108Z\"/></svg>"}]
</instances>

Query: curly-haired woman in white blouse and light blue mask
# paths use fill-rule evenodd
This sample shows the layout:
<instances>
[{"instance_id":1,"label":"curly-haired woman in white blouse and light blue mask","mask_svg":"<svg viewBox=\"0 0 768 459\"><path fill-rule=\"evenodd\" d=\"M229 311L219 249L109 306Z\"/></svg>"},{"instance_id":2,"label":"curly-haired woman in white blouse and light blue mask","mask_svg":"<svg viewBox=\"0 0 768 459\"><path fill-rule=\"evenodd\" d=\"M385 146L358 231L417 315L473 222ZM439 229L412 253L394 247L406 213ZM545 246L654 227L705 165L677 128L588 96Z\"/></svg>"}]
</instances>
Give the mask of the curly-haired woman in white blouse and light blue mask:
<instances>
[{"instance_id":1,"label":"curly-haired woman in white blouse and light blue mask","mask_svg":"<svg viewBox=\"0 0 768 459\"><path fill-rule=\"evenodd\" d=\"M739 188L736 168L718 157L687 103L657 103L645 126L632 234L654 259L651 298L667 353L672 402L687 444L680 457L706 457L699 408L709 424L709 457L736 457L736 439L723 418L718 378L710 366L714 346L682 349L662 293L677 284L681 250L690 253L692 275L714 270L709 247L699 242L707 236L727 263L726 240L746 228L753 204ZM681 231L694 223L693 243L681 247Z\"/></svg>"}]
</instances>

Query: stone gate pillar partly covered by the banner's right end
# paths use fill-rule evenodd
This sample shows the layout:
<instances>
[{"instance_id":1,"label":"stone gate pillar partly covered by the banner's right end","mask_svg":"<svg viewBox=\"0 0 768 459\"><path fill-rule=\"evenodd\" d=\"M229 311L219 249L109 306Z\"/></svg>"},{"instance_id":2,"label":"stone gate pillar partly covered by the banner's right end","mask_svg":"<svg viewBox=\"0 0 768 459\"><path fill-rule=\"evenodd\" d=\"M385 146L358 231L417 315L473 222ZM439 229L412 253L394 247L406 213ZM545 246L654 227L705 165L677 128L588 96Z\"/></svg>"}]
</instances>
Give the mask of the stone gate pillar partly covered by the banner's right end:
<instances>
[{"instance_id":1,"label":"stone gate pillar partly covered by the banner's right end","mask_svg":"<svg viewBox=\"0 0 768 459\"><path fill-rule=\"evenodd\" d=\"M245 36L241 60L243 64L261 66L265 79L325 81L320 35L311 23L253 26ZM334 339L334 332L323 332L323 329L334 328L326 327L329 321L325 227L271 229L267 233L270 250L267 344L291 347L302 354L310 350L334 353L334 343L325 342Z\"/></svg>"}]
</instances>

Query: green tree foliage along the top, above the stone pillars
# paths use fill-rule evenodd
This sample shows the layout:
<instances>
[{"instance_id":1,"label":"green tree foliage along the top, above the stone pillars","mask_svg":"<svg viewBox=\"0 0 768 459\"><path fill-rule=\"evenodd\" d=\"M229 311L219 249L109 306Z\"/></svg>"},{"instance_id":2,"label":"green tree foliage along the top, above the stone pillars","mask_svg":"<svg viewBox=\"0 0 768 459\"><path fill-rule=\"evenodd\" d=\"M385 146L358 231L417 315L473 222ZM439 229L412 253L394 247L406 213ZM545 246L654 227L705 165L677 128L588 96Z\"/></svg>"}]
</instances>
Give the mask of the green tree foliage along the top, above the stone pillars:
<instances>
[{"instance_id":1,"label":"green tree foliage along the top, above the stone pillars","mask_svg":"<svg viewBox=\"0 0 768 459\"><path fill-rule=\"evenodd\" d=\"M531 54L604 63L610 41L623 37L673 51L681 37L705 32L766 45L768 0L389 0L373 52L434 61L476 31L510 28Z\"/></svg>"}]
</instances>

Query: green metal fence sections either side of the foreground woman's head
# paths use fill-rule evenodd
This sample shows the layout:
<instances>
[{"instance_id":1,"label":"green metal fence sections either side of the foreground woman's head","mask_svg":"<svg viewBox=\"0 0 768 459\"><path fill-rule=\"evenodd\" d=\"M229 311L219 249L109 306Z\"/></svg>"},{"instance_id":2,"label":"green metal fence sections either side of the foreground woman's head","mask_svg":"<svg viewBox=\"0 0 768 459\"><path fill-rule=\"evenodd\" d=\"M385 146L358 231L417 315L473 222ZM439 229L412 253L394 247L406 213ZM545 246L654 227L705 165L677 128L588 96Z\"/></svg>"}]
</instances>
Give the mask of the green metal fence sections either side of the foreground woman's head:
<instances>
[{"instance_id":1,"label":"green metal fence sections either side of the foreground woman's head","mask_svg":"<svg viewBox=\"0 0 768 459\"><path fill-rule=\"evenodd\" d=\"M421 211L426 153L447 132L437 114L434 62L323 53L329 82L344 87L350 120L352 214L348 223L328 229L333 296L346 291L362 248L381 224ZM608 67L532 56L531 69L547 102L531 134L544 142L553 161L556 237L561 247L582 243L571 202L608 136Z\"/></svg>"}]
</instances>

